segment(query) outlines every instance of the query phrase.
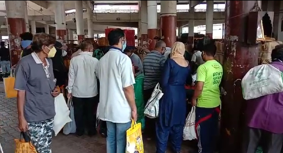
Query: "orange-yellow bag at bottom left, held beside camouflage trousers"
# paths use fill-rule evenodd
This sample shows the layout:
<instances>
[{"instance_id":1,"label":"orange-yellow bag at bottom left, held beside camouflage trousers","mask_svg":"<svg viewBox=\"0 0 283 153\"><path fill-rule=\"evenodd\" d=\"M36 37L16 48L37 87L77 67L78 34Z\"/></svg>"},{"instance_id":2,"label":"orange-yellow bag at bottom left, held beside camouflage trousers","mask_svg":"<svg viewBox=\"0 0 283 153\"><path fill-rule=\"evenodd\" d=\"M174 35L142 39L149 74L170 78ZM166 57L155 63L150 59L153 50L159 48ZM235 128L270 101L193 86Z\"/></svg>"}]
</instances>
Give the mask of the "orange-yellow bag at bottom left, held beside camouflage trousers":
<instances>
[{"instance_id":1,"label":"orange-yellow bag at bottom left, held beside camouflage trousers","mask_svg":"<svg viewBox=\"0 0 283 153\"><path fill-rule=\"evenodd\" d=\"M37 153L31 141L25 141L25 139L21 139L20 137L20 139L15 139L15 143L16 143L15 153Z\"/></svg>"}]
</instances>

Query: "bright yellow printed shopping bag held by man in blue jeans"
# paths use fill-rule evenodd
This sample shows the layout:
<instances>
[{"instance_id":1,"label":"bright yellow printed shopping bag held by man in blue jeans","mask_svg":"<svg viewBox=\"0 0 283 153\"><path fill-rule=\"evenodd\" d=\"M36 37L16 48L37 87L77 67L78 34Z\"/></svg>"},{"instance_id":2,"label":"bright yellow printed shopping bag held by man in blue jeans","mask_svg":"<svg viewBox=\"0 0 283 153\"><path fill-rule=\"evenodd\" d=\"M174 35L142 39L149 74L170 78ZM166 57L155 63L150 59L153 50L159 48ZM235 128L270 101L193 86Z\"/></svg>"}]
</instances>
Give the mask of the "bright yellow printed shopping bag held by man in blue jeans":
<instances>
[{"instance_id":1,"label":"bright yellow printed shopping bag held by man in blue jeans","mask_svg":"<svg viewBox=\"0 0 283 153\"><path fill-rule=\"evenodd\" d=\"M144 153L141 135L141 123L132 120L132 126L127 130L126 153Z\"/></svg>"}]
</instances>

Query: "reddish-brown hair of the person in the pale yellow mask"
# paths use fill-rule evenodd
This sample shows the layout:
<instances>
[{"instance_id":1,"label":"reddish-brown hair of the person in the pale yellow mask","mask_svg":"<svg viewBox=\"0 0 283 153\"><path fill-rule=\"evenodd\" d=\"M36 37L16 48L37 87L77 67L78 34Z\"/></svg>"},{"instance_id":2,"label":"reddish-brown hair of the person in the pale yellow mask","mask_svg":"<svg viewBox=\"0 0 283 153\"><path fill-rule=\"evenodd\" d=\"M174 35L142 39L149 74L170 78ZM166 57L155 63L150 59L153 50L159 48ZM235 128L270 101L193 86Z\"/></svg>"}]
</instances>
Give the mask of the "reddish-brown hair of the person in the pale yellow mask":
<instances>
[{"instance_id":1,"label":"reddish-brown hair of the person in the pale yellow mask","mask_svg":"<svg viewBox=\"0 0 283 153\"><path fill-rule=\"evenodd\" d=\"M34 52L42 51L42 46L49 46L55 44L56 38L46 33L38 33L33 36L33 42L31 43L31 49Z\"/></svg>"}]
</instances>

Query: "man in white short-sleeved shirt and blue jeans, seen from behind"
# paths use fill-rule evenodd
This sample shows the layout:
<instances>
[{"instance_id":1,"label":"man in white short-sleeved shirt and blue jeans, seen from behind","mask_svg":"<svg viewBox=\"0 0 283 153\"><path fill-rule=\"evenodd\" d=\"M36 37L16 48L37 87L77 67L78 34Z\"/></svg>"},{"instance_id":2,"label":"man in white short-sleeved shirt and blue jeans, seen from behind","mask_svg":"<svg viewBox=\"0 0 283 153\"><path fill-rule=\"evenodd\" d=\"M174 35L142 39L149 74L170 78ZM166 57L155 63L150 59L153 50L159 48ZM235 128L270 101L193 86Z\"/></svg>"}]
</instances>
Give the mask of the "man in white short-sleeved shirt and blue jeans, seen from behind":
<instances>
[{"instance_id":1,"label":"man in white short-sleeved shirt and blue jeans, seen from behind","mask_svg":"<svg viewBox=\"0 0 283 153\"><path fill-rule=\"evenodd\" d=\"M100 81L98 112L107 124L107 153L124 153L126 131L132 120L137 120L135 79L131 59L123 53L127 46L124 31L110 31L108 42L111 47L96 69Z\"/></svg>"}]
</instances>

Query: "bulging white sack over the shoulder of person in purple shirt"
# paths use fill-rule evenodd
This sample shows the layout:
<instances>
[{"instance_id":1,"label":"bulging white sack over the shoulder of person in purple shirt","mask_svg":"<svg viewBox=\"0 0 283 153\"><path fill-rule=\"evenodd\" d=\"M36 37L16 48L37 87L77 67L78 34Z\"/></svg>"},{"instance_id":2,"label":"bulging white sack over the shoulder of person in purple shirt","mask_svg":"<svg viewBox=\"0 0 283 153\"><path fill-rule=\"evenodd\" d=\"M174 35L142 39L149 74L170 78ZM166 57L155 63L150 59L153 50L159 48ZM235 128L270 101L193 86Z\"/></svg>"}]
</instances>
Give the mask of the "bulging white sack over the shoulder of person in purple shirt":
<instances>
[{"instance_id":1,"label":"bulging white sack over the shoulder of person in purple shirt","mask_svg":"<svg viewBox=\"0 0 283 153\"><path fill-rule=\"evenodd\" d=\"M283 73L270 64L251 68L242 79L245 100L283 91Z\"/></svg>"}]
</instances>

